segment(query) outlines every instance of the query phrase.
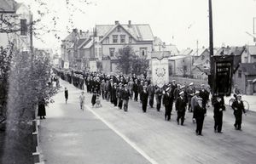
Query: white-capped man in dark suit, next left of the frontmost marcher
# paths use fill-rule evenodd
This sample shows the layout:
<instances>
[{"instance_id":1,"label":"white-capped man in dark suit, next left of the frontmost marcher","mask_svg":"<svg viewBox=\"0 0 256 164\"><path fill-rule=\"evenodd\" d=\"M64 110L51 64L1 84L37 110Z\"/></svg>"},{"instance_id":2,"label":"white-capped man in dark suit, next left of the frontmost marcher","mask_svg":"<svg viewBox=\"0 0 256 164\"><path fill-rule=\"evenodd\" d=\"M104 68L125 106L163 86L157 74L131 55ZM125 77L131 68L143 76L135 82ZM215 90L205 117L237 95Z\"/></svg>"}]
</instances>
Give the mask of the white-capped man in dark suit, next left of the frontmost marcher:
<instances>
[{"instance_id":1,"label":"white-capped man in dark suit, next left of the frontmost marcher","mask_svg":"<svg viewBox=\"0 0 256 164\"><path fill-rule=\"evenodd\" d=\"M179 125L179 120L181 119L181 125L183 126L185 120L185 112L186 112L186 102L184 99L184 92L179 93L179 97L176 100L175 104L177 110L177 125Z\"/></svg>"}]
</instances>

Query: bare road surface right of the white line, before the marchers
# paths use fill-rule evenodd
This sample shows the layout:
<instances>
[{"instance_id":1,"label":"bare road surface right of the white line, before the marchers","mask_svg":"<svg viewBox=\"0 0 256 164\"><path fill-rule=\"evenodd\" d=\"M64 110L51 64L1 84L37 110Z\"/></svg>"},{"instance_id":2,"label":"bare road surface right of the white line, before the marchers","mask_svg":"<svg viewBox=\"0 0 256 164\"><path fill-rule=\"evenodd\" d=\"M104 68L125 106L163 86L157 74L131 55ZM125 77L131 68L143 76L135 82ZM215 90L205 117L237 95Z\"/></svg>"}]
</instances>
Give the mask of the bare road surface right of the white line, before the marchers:
<instances>
[{"instance_id":1,"label":"bare road surface right of the white line, before the marchers","mask_svg":"<svg viewBox=\"0 0 256 164\"><path fill-rule=\"evenodd\" d=\"M62 83L69 86L67 82ZM74 92L73 88L70 89ZM149 159L157 163L252 164L256 161L256 114L254 112L243 117L242 131L236 131L233 127L232 110L227 109L224 112L224 133L220 134L213 132L212 108L210 108L207 110L203 128L204 136L201 137L195 135L195 124L191 122L191 113L186 113L185 126L182 127L175 122L174 112L171 122L164 121L163 108L160 112L155 108L148 108L148 112L143 113L141 105L132 100L129 103L128 112L114 108L105 100L102 100L102 108L90 108L90 98L91 95L86 93L88 112L85 111L84 114L92 110L103 122L120 133L128 143L135 145ZM45 126L50 125L45 124Z\"/></svg>"}]
</instances>

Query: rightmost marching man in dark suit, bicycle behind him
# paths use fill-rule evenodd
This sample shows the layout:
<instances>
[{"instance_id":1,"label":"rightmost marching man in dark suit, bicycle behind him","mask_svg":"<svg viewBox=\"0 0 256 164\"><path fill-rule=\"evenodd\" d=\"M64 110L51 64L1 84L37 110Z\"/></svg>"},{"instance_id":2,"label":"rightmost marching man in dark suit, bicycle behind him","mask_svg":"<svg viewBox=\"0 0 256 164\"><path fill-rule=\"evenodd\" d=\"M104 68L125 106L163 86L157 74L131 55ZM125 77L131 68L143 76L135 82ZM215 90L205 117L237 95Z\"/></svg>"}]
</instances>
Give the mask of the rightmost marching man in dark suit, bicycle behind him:
<instances>
[{"instance_id":1,"label":"rightmost marching man in dark suit, bicycle behind him","mask_svg":"<svg viewBox=\"0 0 256 164\"><path fill-rule=\"evenodd\" d=\"M234 127L236 128L236 130L241 130L242 113L246 115L246 111L244 109L244 105L241 100L241 94L236 95L236 100L233 102L231 107L234 110L234 116L236 119Z\"/></svg>"}]
</instances>

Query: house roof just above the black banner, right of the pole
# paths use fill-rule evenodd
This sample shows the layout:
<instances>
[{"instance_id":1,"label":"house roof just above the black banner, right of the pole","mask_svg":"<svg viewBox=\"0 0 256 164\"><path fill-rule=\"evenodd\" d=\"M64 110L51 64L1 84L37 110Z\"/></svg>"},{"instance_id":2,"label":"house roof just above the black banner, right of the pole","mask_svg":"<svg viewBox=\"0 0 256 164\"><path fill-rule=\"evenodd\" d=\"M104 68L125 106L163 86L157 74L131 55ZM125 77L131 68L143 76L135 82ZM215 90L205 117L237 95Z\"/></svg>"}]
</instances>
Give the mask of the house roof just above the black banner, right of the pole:
<instances>
[{"instance_id":1,"label":"house roof just above the black banner, right of the pole","mask_svg":"<svg viewBox=\"0 0 256 164\"><path fill-rule=\"evenodd\" d=\"M214 55L241 55L245 47L227 47L227 48L219 48L217 53Z\"/></svg>"}]
</instances>

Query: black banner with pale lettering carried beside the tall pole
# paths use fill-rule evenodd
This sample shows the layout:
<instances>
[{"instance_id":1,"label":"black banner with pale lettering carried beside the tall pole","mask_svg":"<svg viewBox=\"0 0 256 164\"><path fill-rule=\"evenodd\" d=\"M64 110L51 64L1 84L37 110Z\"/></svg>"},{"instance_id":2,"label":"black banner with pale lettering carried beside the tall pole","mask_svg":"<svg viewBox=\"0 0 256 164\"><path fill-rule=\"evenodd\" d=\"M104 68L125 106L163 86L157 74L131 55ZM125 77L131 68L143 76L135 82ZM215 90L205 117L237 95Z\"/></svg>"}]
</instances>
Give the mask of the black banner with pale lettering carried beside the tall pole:
<instances>
[{"instance_id":1,"label":"black banner with pale lettering carried beside the tall pole","mask_svg":"<svg viewBox=\"0 0 256 164\"><path fill-rule=\"evenodd\" d=\"M213 56L213 93L229 96L233 75L233 56Z\"/></svg>"}]
</instances>

